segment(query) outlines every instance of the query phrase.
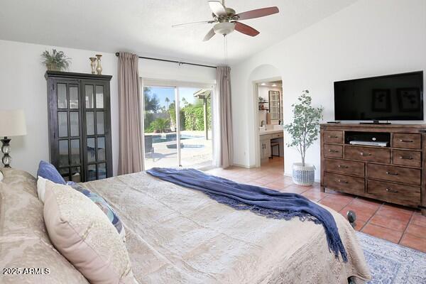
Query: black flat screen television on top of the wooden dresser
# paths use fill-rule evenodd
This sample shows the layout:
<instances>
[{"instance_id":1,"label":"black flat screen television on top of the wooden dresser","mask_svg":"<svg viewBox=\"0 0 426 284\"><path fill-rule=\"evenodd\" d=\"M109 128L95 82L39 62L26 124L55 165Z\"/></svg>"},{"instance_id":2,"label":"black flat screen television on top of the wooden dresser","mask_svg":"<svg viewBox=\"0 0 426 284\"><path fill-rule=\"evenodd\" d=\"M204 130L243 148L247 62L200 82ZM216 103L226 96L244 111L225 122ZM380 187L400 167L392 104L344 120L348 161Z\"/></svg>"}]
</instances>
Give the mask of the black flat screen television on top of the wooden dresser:
<instances>
[{"instance_id":1,"label":"black flat screen television on top of the wooden dresser","mask_svg":"<svg viewBox=\"0 0 426 284\"><path fill-rule=\"evenodd\" d=\"M423 71L334 82L334 120L423 120Z\"/></svg>"}]
</instances>

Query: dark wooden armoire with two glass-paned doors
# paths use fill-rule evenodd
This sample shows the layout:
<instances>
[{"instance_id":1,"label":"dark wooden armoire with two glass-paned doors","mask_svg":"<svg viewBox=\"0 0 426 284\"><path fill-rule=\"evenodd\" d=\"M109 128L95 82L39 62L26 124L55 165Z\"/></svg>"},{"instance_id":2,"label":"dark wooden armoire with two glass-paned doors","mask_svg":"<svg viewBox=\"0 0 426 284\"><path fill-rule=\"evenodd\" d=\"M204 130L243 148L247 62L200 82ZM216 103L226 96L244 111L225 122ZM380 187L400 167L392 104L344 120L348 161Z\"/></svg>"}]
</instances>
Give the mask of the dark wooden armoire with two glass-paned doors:
<instances>
[{"instance_id":1,"label":"dark wooden armoire with two glass-paned doors","mask_svg":"<svg viewBox=\"0 0 426 284\"><path fill-rule=\"evenodd\" d=\"M112 76L47 71L50 163L65 180L112 176Z\"/></svg>"}]
</instances>

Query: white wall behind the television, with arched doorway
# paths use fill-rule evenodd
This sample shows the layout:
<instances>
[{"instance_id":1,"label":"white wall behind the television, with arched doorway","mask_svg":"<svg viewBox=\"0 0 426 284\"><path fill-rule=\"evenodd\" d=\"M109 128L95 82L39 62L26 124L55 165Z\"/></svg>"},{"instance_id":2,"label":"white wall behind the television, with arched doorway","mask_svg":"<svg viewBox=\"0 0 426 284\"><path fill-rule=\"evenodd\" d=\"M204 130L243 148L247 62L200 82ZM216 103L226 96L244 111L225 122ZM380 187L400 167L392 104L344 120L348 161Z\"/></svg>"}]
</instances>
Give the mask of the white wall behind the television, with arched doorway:
<instances>
[{"instance_id":1,"label":"white wall behind the television, with arched doorway","mask_svg":"<svg viewBox=\"0 0 426 284\"><path fill-rule=\"evenodd\" d=\"M312 103L324 107L324 121L334 119L333 82L399 72L426 70L426 1L359 0L346 9L231 67L234 162L254 165L252 73L272 65L283 78L284 123L303 89ZM276 76L277 74L274 74ZM263 72L263 77L271 74ZM426 82L426 80L425 80ZM248 125L249 124L249 125ZM249 141L248 141L249 140ZM285 137L288 141L288 137ZM285 149L285 171L299 161ZM320 143L307 151L307 161L320 177Z\"/></svg>"}]
</instances>

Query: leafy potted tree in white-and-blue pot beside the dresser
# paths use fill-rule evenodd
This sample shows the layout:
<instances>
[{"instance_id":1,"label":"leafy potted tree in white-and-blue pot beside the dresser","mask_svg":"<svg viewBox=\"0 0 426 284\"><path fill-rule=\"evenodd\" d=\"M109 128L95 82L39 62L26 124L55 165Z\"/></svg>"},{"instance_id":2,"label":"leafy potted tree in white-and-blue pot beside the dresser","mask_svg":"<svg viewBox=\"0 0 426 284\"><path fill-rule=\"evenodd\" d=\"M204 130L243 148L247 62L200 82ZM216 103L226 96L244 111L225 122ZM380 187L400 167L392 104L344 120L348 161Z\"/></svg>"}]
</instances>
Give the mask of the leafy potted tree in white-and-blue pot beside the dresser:
<instances>
[{"instance_id":1,"label":"leafy potted tree in white-and-blue pot beside the dresser","mask_svg":"<svg viewBox=\"0 0 426 284\"><path fill-rule=\"evenodd\" d=\"M306 151L318 139L324 108L312 107L308 90L303 91L297 99L299 102L292 105L293 122L285 125L284 129L291 136L287 146L295 147L302 158L302 163L293 163L293 182L309 186L315 182L315 166L305 163Z\"/></svg>"}]
</instances>

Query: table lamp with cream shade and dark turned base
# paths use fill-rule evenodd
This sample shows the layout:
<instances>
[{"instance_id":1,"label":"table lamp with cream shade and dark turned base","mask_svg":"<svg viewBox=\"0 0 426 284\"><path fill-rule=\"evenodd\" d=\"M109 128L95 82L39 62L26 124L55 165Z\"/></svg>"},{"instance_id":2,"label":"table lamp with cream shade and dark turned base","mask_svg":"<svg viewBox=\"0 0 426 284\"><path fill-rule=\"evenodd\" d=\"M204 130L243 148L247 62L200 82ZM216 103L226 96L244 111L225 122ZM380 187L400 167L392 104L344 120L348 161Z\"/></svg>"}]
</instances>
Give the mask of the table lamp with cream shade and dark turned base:
<instances>
[{"instance_id":1,"label":"table lamp with cream shade and dark turned base","mask_svg":"<svg viewBox=\"0 0 426 284\"><path fill-rule=\"evenodd\" d=\"M0 110L0 139L1 143L1 152L3 153L3 158L1 158L1 163L3 163L4 168L11 168L11 156L9 155L11 151L11 146L9 145L11 136L23 136L26 135L26 123L25 123L25 114L22 109L18 110Z\"/></svg>"}]
</instances>

